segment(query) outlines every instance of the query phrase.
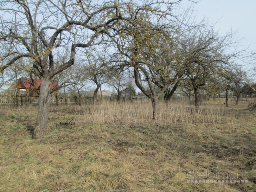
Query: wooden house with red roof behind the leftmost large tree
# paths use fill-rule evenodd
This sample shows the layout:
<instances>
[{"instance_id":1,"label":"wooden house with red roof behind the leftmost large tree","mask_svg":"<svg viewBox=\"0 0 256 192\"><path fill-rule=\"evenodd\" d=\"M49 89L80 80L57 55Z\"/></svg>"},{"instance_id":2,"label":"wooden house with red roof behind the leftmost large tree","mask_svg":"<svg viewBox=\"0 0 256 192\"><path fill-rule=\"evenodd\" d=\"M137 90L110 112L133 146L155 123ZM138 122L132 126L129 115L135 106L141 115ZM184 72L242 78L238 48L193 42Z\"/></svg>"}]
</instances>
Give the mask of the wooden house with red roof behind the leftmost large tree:
<instances>
[{"instance_id":1,"label":"wooden house with red roof behind the leftmost large tree","mask_svg":"<svg viewBox=\"0 0 256 192\"><path fill-rule=\"evenodd\" d=\"M16 84L18 83L18 84ZM14 81L11 86L8 88L9 90L19 89L19 95L27 95L27 96L39 96L40 94L40 79L30 79L30 78L20 78L17 81ZM57 88L57 89L56 89ZM54 81L51 85L51 90L55 90L52 92L52 95L58 95L58 85Z\"/></svg>"}]
</instances>

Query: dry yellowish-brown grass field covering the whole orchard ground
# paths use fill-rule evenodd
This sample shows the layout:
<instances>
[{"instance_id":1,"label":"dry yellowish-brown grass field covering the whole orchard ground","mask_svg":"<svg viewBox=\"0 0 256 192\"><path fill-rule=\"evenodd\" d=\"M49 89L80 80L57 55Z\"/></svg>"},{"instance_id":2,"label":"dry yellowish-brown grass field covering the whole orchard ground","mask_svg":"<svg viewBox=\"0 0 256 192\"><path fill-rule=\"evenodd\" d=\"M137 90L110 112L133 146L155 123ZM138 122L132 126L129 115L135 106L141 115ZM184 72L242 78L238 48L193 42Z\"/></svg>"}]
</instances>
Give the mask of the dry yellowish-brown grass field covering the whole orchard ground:
<instances>
[{"instance_id":1,"label":"dry yellowish-brown grass field covering the whole orchard ground","mask_svg":"<svg viewBox=\"0 0 256 192\"><path fill-rule=\"evenodd\" d=\"M255 192L251 102L211 100L198 114L160 103L156 120L151 103L52 106L40 140L31 136L36 107L0 109L0 191ZM248 183L187 183L207 170L237 180L245 171Z\"/></svg>"}]
</instances>

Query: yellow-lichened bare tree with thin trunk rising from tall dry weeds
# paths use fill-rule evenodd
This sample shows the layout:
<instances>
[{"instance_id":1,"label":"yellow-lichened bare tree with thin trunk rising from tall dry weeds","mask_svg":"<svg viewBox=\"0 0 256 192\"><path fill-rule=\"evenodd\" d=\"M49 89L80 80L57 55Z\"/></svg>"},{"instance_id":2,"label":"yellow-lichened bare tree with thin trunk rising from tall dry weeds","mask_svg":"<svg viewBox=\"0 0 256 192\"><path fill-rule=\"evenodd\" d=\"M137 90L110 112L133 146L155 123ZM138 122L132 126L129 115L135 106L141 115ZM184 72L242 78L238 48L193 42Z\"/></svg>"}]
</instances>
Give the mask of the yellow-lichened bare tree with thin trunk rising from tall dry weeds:
<instances>
[{"instance_id":1,"label":"yellow-lichened bare tree with thin trunk rising from tall dry weeds","mask_svg":"<svg viewBox=\"0 0 256 192\"><path fill-rule=\"evenodd\" d=\"M131 15L133 21L130 25L123 24L118 40L113 37L122 55L122 63L133 68L135 84L152 102L153 119L156 118L158 99L169 86L168 79L173 70L168 56L159 59L159 54L167 50L166 46L172 46L169 32L173 22L168 20L170 15L167 15L165 11L150 10ZM159 77L167 81L159 81Z\"/></svg>"}]
</instances>

